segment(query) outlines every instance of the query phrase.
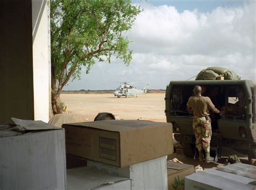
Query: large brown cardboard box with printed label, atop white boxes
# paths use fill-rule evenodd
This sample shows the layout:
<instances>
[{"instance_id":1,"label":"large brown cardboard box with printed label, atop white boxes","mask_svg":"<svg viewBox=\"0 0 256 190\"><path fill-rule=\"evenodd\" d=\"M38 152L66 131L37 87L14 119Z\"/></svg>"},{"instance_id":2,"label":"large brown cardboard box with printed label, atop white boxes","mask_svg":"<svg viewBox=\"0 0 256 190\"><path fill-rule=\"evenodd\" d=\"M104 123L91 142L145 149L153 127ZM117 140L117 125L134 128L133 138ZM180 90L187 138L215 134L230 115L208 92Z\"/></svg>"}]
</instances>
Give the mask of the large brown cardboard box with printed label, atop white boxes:
<instances>
[{"instance_id":1,"label":"large brown cardboard box with printed label, atop white boxes","mask_svg":"<svg viewBox=\"0 0 256 190\"><path fill-rule=\"evenodd\" d=\"M125 167L173 153L172 125L143 120L64 124L66 152Z\"/></svg>"}]
</instances>

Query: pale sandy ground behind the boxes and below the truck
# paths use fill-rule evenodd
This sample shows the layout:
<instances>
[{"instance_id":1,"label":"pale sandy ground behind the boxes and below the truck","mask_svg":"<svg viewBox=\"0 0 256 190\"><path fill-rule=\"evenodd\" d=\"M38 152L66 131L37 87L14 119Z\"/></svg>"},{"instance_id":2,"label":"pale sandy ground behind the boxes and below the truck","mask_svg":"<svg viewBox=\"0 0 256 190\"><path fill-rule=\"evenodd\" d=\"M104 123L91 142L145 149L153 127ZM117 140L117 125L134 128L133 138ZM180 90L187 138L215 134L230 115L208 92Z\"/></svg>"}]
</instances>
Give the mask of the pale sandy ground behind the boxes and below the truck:
<instances>
[{"instance_id":1,"label":"pale sandy ground behind the boxes and below the truck","mask_svg":"<svg viewBox=\"0 0 256 190\"><path fill-rule=\"evenodd\" d=\"M143 119L166 122L165 93L141 94L138 97L114 97L113 94L62 94L61 100L68 105L68 114L78 122L93 121L99 112L116 114L120 119ZM183 153L169 155L169 159L177 158L179 161L203 168L216 168L223 166L228 155L236 154L242 162L248 164L247 156L223 147L223 157L216 164L206 164Z\"/></svg>"}]
</instances>

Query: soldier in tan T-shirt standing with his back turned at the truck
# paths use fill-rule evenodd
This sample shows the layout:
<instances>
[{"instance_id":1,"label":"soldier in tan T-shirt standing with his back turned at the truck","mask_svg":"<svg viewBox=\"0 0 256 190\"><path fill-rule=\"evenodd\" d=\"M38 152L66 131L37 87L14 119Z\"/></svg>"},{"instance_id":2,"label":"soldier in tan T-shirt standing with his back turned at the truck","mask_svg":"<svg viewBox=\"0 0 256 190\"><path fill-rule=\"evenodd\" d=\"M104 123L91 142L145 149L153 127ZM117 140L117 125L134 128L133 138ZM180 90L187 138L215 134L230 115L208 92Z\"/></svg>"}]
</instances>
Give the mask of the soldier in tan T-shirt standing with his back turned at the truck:
<instances>
[{"instance_id":1,"label":"soldier in tan T-shirt standing with his back turned at the truck","mask_svg":"<svg viewBox=\"0 0 256 190\"><path fill-rule=\"evenodd\" d=\"M199 152L199 161L203 161L203 148L205 150L205 162L212 162L210 157L210 141L212 136L211 118L209 117L209 109L215 113L220 111L215 108L209 97L201 96L201 86L194 86L193 92L195 96L188 99L187 110L193 114L193 131L196 137L196 147Z\"/></svg>"}]
</instances>

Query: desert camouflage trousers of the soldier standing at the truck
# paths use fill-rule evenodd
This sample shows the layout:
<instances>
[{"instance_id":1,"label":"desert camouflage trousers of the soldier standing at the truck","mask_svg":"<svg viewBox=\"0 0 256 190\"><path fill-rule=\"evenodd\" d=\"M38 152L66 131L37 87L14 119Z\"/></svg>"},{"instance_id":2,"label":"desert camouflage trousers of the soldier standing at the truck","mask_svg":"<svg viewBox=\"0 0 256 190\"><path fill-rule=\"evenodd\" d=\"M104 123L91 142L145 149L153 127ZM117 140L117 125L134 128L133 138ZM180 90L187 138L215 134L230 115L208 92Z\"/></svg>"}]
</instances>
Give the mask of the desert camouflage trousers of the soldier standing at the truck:
<instances>
[{"instance_id":1,"label":"desert camouflage trousers of the soldier standing at the truck","mask_svg":"<svg viewBox=\"0 0 256 190\"><path fill-rule=\"evenodd\" d=\"M198 151L202 151L203 148L205 152L210 152L210 141L212 137L212 126L211 118L208 117L193 117L193 131L196 137L196 147Z\"/></svg>"}]
</instances>

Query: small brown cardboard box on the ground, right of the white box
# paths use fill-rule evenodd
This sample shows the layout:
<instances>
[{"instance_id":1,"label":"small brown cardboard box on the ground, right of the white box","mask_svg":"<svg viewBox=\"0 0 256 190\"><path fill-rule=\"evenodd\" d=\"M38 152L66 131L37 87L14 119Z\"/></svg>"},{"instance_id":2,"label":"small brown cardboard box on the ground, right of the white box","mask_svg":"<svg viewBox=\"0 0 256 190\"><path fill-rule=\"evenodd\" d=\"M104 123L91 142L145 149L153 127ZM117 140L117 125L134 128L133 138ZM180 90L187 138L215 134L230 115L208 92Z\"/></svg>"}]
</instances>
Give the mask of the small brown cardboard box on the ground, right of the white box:
<instances>
[{"instance_id":1,"label":"small brown cardboard box on the ground, right of the white box","mask_svg":"<svg viewBox=\"0 0 256 190\"><path fill-rule=\"evenodd\" d=\"M194 173L194 166L167 161L168 189L184 189L184 178Z\"/></svg>"}]
</instances>

